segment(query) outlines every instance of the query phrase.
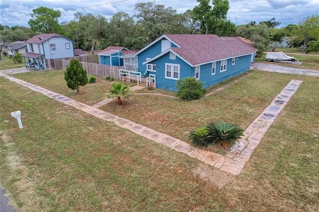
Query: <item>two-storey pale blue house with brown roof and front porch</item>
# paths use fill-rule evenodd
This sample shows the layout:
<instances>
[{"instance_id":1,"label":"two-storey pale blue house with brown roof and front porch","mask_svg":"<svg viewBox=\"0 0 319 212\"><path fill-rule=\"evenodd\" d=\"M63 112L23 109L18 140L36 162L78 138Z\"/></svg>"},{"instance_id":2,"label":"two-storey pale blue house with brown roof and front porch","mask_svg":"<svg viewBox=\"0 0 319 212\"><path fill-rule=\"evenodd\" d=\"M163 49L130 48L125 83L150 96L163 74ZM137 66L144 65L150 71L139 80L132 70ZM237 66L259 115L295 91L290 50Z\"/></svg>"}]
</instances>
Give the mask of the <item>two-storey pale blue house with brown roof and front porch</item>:
<instances>
[{"instance_id":1,"label":"two-storey pale blue house with brown roof and front porch","mask_svg":"<svg viewBox=\"0 0 319 212\"><path fill-rule=\"evenodd\" d=\"M73 57L73 41L59 34L39 34L27 41L28 52L22 56L26 67L47 69L46 59Z\"/></svg>"}]
</instances>

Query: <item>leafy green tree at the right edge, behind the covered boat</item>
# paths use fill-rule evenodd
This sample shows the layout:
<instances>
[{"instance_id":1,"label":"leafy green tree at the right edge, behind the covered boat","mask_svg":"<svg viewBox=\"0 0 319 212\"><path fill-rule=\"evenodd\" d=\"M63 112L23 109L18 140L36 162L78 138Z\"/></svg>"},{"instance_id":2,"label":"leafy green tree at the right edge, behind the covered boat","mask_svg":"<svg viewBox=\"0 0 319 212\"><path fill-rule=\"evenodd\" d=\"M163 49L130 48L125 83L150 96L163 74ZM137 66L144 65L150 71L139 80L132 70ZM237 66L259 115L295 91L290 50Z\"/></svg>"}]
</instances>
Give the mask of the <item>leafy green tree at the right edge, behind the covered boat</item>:
<instances>
[{"instance_id":1,"label":"leafy green tree at the right edge, behind the covered boat","mask_svg":"<svg viewBox=\"0 0 319 212\"><path fill-rule=\"evenodd\" d=\"M308 16L301 20L291 34L293 47L300 47L298 45L303 41L304 52L309 41L319 39L319 15Z\"/></svg>"}]
</instances>

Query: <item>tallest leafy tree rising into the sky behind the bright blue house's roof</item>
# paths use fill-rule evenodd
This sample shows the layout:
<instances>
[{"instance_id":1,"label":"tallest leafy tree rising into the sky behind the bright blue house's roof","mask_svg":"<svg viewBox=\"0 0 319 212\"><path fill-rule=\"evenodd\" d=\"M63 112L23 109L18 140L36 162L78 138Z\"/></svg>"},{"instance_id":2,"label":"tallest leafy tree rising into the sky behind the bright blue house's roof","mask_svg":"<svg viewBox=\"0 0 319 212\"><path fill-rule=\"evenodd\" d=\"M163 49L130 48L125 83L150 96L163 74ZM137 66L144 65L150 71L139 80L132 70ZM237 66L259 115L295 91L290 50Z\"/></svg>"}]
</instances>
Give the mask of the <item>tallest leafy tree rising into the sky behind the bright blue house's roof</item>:
<instances>
[{"instance_id":1,"label":"tallest leafy tree rising into the sky behind the bright blue house's roof","mask_svg":"<svg viewBox=\"0 0 319 212\"><path fill-rule=\"evenodd\" d=\"M236 29L234 23L226 20L229 10L228 0L197 0L199 5L193 8L194 18L200 22L200 29L205 34L233 35Z\"/></svg>"}]
</instances>

